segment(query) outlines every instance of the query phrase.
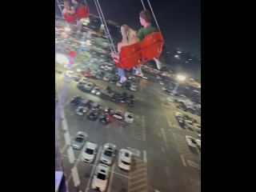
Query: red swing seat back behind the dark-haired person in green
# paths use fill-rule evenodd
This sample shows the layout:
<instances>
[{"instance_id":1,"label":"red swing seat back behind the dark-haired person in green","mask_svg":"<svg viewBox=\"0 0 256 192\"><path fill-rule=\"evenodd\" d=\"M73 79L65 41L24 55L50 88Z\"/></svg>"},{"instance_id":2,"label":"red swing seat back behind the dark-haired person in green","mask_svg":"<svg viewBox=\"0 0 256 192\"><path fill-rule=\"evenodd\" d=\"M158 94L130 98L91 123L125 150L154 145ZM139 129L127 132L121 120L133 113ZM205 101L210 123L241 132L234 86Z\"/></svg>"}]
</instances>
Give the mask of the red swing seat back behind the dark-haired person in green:
<instances>
[{"instance_id":1,"label":"red swing seat back behind the dark-haired person in green","mask_svg":"<svg viewBox=\"0 0 256 192\"><path fill-rule=\"evenodd\" d=\"M145 63L153 58L158 58L162 54L163 44L164 41L160 32L146 35L140 44L142 49L142 62Z\"/></svg>"}]
</instances>

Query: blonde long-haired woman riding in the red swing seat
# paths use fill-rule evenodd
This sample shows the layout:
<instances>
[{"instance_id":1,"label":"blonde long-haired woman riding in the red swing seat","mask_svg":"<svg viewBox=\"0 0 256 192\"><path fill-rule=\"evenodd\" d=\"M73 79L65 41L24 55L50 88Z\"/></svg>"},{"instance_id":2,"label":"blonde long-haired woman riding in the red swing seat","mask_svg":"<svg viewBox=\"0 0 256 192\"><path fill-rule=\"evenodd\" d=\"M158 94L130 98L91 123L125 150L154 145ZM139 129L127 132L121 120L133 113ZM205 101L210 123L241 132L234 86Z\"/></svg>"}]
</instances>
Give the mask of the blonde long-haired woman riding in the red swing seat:
<instances>
[{"instance_id":1,"label":"blonde long-haired woman riding in the red swing seat","mask_svg":"<svg viewBox=\"0 0 256 192\"><path fill-rule=\"evenodd\" d=\"M122 46L130 46L131 44L134 44L136 42L139 42L139 39L137 38L136 31L132 30L129 26L123 25L121 26L121 34L122 34L122 42L118 42L118 53L120 53ZM112 58L118 60L118 55L112 53ZM142 67L139 65L137 67L134 67L134 70L136 70L136 74L139 76L143 76L142 74ZM118 75L121 77L120 82L126 82L126 74L125 70L122 68L118 68Z\"/></svg>"}]
</instances>

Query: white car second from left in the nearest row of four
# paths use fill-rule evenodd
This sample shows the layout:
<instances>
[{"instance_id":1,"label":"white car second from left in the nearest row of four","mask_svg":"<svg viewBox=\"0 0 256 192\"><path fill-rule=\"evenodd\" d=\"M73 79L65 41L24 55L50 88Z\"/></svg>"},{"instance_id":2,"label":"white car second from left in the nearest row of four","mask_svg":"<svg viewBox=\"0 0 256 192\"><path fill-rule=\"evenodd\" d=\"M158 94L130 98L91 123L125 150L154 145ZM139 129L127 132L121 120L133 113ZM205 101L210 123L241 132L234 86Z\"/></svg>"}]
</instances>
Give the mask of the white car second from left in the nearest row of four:
<instances>
[{"instance_id":1,"label":"white car second from left in the nearest row of four","mask_svg":"<svg viewBox=\"0 0 256 192\"><path fill-rule=\"evenodd\" d=\"M94 142L86 142L86 148L82 151L83 162L94 162L94 158L97 154L98 145Z\"/></svg>"}]
</instances>

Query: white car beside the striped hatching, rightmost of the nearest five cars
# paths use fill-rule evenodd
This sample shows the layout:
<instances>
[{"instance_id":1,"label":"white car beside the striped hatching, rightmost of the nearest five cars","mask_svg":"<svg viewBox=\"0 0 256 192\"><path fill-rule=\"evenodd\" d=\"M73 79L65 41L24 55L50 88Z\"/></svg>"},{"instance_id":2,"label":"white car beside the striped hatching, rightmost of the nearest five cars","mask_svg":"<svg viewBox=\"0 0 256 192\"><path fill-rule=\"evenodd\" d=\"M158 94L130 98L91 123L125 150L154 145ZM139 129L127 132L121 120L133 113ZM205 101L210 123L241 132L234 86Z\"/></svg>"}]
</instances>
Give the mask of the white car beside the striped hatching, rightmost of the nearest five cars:
<instances>
[{"instance_id":1,"label":"white car beside the striped hatching, rightmost of the nearest five cars","mask_svg":"<svg viewBox=\"0 0 256 192\"><path fill-rule=\"evenodd\" d=\"M130 170L132 153L130 150L119 150L118 166L123 170Z\"/></svg>"}]
</instances>

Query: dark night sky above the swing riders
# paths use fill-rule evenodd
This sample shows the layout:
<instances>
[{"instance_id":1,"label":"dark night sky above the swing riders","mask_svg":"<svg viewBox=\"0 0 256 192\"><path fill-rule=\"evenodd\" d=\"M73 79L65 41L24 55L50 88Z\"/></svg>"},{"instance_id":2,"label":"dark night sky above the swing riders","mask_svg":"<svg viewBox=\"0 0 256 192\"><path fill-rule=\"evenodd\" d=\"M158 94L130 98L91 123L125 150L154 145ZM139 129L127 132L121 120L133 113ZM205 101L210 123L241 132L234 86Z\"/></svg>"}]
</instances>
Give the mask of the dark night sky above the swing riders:
<instances>
[{"instance_id":1,"label":"dark night sky above the swing riders","mask_svg":"<svg viewBox=\"0 0 256 192\"><path fill-rule=\"evenodd\" d=\"M94 0L86 0L90 13L98 15ZM138 30L138 14L143 10L141 0L98 0L104 17L120 26L126 24ZM147 10L148 1L144 0ZM201 0L150 0L166 45L178 47L201 57ZM58 7L55 8L59 14ZM154 20L154 18L153 18ZM154 22L152 22L154 26Z\"/></svg>"}]
</instances>

